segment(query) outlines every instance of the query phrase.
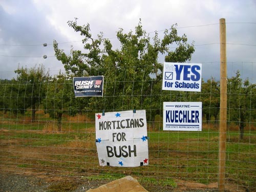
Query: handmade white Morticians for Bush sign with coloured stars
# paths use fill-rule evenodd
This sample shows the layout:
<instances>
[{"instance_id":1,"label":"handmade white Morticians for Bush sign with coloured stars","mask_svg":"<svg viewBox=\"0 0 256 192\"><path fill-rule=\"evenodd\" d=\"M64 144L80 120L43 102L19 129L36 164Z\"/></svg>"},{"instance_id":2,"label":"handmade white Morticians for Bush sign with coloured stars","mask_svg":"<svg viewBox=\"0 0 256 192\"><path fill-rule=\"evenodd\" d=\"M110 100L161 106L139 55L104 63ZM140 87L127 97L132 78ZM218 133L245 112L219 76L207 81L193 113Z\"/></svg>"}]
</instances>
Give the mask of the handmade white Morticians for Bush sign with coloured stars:
<instances>
[{"instance_id":1,"label":"handmade white Morticians for Bush sign with coloured stars","mask_svg":"<svg viewBox=\"0 0 256 192\"><path fill-rule=\"evenodd\" d=\"M95 124L101 166L148 165L145 110L96 113Z\"/></svg>"}]
</instances>

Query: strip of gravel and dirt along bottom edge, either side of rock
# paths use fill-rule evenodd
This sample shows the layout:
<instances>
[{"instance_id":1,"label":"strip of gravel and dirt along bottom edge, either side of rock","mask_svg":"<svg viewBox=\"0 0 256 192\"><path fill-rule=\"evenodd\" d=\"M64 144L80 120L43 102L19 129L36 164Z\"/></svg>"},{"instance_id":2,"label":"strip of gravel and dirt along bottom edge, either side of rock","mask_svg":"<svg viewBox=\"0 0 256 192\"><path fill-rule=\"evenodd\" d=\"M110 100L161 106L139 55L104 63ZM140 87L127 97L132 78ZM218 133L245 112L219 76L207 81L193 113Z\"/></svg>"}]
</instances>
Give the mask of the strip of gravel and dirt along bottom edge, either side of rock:
<instances>
[{"instance_id":1,"label":"strip of gravel and dirt along bottom edge, either side of rock","mask_svg":"<svg viewBox=\"0 0 256 192\"><path fill-rule=\"evenodd\" d=\"M51 174L34 174L34 173L9 173L0 172L0 192L84 192L90 188L97 188L100 185L108 183L110 181L104 180L87 180L82 177L58 177ZM182 191L194 191L194 192L217 192L218 184L212 183L204 185L200 183L179 181L176 188L168 188L157 185L142 184L142 186L151 192L182 192ZM236 185L226 185L226 192L249 192L245 187Z\"/></svg>"}]
</instances>

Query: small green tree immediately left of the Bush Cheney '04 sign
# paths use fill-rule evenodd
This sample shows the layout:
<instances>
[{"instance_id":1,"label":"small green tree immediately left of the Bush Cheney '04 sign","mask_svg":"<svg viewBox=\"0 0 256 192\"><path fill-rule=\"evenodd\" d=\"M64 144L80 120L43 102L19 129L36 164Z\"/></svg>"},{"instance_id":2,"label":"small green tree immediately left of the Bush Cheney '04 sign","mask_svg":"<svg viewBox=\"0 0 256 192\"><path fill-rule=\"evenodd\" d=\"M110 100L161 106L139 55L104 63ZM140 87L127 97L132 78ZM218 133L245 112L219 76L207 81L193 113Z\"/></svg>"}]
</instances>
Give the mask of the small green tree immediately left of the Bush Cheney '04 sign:
<instances>
[{"instance_id":1,"label":"small green tree immediately left of the Bush Cheney '04 sign","mask_svg":"<svg viewBox=\"0 0 256 192\"><path fill-rule=\"evenodd\" d=\"M57 77L52 78L47 86L46 97L42 101L45 113L51 118L57 120L58 131L62 127L62 115L68 113L73 115L74 92L72 89L72 80L59 73Z\"/></svg>"}]
</instances>

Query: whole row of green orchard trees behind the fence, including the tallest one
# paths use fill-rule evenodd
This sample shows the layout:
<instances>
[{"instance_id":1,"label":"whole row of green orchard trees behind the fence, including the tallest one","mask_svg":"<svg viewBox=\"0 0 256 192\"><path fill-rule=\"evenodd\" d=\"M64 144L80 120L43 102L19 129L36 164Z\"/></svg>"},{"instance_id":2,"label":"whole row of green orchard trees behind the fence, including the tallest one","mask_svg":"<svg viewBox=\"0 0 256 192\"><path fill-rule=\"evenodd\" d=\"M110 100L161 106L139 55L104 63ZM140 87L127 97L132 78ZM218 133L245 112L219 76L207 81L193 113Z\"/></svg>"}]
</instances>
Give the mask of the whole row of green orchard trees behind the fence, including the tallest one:
<instances>
[{"instance_id":1,"label":"whole row of green orchard trees behind the fence, including the tallest one","mask_svg":"<svg viewBox=\"0 0 256 192\"><path fill-rule=\"evenodd\" d=\"M16 78L1 80L0 104L5 113L24 114L32 110L32 120L39 106L58 122L61 129L62 115L82 114L104 110L147 111L147 120L154 121L162 115L164 101L202 101L206 121L219 120L220 82L215 78L202 80L201 92L163 91L162 63L186 62L194 53L194 45L187 43L186 35L179 36L176 26L164 31L162 39L155 32L153 38L142 29L141 22L135 32L117 32L120 49L113 49L111 41L100 33L96 38L90 33L90 25L79 26L77 19L68 22L83 37L84 51L73 50L66 54L54 40L55 56L63 63L66 74L50 76L44 66L31 69L18 68ZM175 49L170 46L175 45ZM73 77L104 76L103 97L75 98ZM239 125L241 133L246 123L256 119L256 88L248 79L242 80L238 71L228 79L228 122ZM242 137L242 134L241 134Z\"/></svg>"}]
</instances>

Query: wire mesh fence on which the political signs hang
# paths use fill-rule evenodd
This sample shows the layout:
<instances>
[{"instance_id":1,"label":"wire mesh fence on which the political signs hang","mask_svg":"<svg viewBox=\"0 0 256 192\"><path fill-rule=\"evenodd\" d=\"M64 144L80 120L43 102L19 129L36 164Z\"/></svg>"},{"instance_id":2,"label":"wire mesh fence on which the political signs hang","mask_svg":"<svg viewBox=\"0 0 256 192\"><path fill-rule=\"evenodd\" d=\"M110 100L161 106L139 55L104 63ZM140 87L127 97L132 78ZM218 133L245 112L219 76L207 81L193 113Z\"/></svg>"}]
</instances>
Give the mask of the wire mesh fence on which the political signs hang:
<instances>
[{"instance_id":1,"label":"wire mesh fence on which the political signs hang","mask_svg":"<svg viewBox=\"0 0 256 192\"><path fill-rule=\"evenodd\" d=\"M243 67L237 71L237 65ZM228 63L226 184L256 190L256 87L245 68ZM1 169L98 179L135 176L159 191L184 183L210 188L218 182L220 82L203 79L201 92L164 91L162 79L145 76L144 66L103 69L103 97L75 98L72 79L55 78L34 68L33 75L1 80ZM214 67L203 63L202 68ZM153 67L152 67L153 68ZM136 73L135 73L136 72ZM142 75L139 75L142 74ZM20 73L21 74L21 73ZM118 76L119 74L119 76ZM133 74L133 75L131 75ZM89 74L90 75L90 74ZM121 78L121 76L123 78ZM163 131L163 102L202 102L202 131ZM148 165L100 166L95 143L95 114L145 110ZM188 185L189 189L200 188Z\"/></svg>"}]
</instances>

